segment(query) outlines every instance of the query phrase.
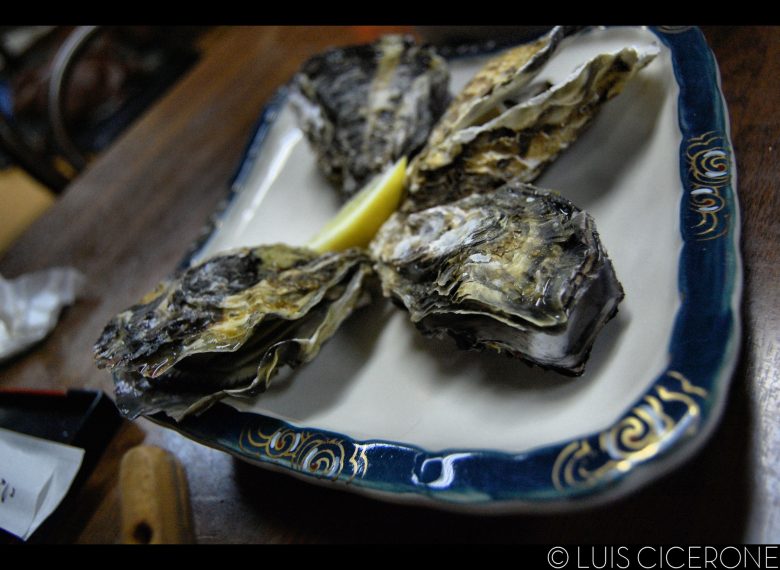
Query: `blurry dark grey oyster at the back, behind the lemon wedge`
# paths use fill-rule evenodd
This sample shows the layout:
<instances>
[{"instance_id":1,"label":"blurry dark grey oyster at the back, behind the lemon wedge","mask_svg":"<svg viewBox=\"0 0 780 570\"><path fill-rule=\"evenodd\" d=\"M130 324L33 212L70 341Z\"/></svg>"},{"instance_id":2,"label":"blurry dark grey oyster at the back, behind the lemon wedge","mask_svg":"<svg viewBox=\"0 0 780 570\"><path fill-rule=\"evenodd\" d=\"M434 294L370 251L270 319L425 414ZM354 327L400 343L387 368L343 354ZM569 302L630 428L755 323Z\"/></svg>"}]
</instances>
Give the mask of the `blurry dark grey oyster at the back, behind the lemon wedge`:
<instances>
[{"instance_id":1,"label":"blurry dark grey oyster at the back, behind the lemon wedge","mask_svg":"<svg viewBox=\"0 0 780 570\"><path fill-rule=\"evenodd\" d=\"M293 78L290 103L319 167L346 198L419 151L449 98L446 61L393 35L312 57Z\"/></svg>"}]
</instances>

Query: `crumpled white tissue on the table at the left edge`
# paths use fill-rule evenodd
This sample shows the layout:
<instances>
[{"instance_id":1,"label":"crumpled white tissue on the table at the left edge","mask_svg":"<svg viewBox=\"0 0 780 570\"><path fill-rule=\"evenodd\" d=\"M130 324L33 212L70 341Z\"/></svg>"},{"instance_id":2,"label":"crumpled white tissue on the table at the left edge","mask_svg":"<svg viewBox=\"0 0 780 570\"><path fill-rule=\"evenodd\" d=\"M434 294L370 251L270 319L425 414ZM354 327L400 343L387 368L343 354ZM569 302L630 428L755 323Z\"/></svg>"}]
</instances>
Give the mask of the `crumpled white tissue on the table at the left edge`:
<instances>
[{"instance_id":1,"label":"crumpled white tissue on the table at the left edge","mask_svg":"<svg viewBox=\"0 0 780 570\"><path fill-rule=\"evenodd\" d=\"M85 282L72 267L45 269L16 279L0 275L0 362L45 338Z\"/></svg>"}]
</instances>

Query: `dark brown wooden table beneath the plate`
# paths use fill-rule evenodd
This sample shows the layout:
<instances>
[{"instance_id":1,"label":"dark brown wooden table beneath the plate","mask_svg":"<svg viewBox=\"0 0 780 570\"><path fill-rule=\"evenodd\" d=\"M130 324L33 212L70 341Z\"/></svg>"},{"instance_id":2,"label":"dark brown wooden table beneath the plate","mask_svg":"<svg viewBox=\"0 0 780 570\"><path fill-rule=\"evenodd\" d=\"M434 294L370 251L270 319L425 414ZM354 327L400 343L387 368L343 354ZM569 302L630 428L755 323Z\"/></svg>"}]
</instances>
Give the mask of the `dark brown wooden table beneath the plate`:
<instances>
[{"instance_id":1,"label":"dark brown wooden table beneath the plate","mask_svg":"<svg viewBox=\"0 0 780 570\"><path fill-rule=\"evenodd\" d=\"M727 409L681 469L615 504L566 516L471 517L401 507L238 462L151 422L126 423L81 491L57 542L117 541L116 475L145 441L190 481L197 538L250 542L713 543L780 540L780 32L706 28L720 64L739 169L744 342ZM84 298L31 352L0 367L0 387L111 393L91 347L107 320L181 259L225 196L258 112L310 54L366 39L341 28L231 28L202 61L0 260L14 277L72 265Z\"/></svg>"}]
</instances>

